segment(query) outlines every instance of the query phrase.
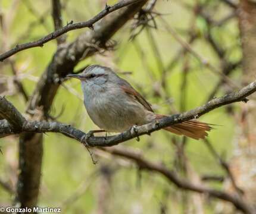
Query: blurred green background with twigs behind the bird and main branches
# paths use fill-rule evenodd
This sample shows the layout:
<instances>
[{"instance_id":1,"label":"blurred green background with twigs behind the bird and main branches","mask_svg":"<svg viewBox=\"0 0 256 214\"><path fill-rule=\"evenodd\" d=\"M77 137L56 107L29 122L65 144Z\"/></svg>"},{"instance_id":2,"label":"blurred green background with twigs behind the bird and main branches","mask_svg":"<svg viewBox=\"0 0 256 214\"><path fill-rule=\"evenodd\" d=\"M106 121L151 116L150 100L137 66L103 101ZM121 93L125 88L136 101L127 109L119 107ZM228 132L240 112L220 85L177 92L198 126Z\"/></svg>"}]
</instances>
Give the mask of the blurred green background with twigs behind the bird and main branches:
<instances>
[{"instance_id":1,"label":"blurred green background with twigs behind the bird and main branches","mask_svg":"<svg viewBox=\"0 0 256 214\"><path fill-rule=\"evenodd\" d=\"M117 1L61 0L63 26L86 21ZM245 86L255 78L256 6L241 0L149 1L111 38L111 48L80 60L79 71L100 64L129 81L159 114L176 114ZM246 5L247 4L247 5ZM111 14L110 14L111 15ZM107 16L108 17L108 16ZM106 18L107 18L106 17ZM52 1L0 1L1 53L53 32ZM73 30L66 43L92 29ZM254 32L254 33L253 33ZM60 44L59 48L61 45ZM27 100L57 51L57 40L15 54L0 64L0 95L29 118ZM70 70L70 73L73 70ZM255 97L209 112L207 140L163 130L115 146L140 153L194 184L226 191L255 204ZM40 109L40 108L39 108ZM98 129L83 106L78 80L61 78L49 120L86 133ZM33 119L39 118L34 115ZM18 136L0 140L0 205L14 204L20 169ZM176 187L161 173L129 158L88 151L62 134L43 134L38 206L63 213L239 213L225 200Z\"/></svg>"}]
</instances>

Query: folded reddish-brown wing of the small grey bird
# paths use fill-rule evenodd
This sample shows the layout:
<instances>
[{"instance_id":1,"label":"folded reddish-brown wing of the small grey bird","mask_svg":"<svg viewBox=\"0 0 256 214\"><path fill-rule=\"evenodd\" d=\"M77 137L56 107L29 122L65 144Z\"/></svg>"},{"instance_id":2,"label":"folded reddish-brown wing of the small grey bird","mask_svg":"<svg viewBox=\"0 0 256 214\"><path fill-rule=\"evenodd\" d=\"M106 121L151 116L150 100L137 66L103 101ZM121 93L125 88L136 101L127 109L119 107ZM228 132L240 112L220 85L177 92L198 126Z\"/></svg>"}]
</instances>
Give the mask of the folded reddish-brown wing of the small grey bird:
<instances>
[{"instance_id":1,"label":"folded reddish-brown wing of the small grey bird","mask_svg":"<svg viewBox=\"0 0 256 214\"><path fill-rule=\"evenodd\" d=\"M123 80L123 79L122 79ZM139 103L141 103L148 111L154 112L151 104L146 101L142 95L140 95L139 92L137 92L135 89L133 89L133 87L126 81L123 80L122 82L123 84L120 86L121 89L124 90L125 93L127 93L127 95L129 96L133 96Z\"/></svg>"}]
</instances>

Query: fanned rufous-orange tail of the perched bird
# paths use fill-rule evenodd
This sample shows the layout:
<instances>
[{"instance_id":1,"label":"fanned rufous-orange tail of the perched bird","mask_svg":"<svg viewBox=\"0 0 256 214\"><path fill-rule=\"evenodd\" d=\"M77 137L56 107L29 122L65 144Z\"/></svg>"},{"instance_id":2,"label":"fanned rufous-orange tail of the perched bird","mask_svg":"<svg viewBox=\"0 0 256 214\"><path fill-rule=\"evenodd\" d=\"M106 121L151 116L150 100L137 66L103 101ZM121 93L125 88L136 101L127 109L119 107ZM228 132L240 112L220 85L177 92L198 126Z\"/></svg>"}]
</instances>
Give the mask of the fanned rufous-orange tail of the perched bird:
<instances>
[{"instance_id":1,"label":"fanned rufous-orange tail of the perched bird","mask_svg":"<svg viewBox=\"0 0 256 214\"><path fill-rule=\"evenodd\" d=\"M157 115L157 118L166 117L164 115ZM199 140L204 139L208 136L207 131L211 130L209 124L205 122L200 122L197 119L191 119L179 124L171 125L170 127L164 128L164 130L170 131L174 134L184 135L186 137L191 137L192 139Z\"/></svg>"}]
</instances>

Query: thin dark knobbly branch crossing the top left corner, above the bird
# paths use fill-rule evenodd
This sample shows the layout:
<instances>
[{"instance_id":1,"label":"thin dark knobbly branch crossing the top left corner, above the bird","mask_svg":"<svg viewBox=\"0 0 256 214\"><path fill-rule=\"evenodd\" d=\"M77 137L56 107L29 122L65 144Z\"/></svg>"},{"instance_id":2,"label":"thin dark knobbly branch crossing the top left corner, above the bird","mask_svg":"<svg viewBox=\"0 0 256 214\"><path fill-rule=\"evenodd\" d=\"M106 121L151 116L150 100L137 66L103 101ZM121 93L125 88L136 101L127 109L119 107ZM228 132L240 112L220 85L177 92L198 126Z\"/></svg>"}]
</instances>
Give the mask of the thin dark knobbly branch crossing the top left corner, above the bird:
<instances>
[{"instance_id":1,"label":"thin dark knobbly branch crossing the top left corner, above the bird","mask_svg":"<svg viewBox=\"0 0 256 214\"><path fill-rule=\"evenodd\" d=\"M88 21L74 23L74 24L73 24L73 21L71 21L66 26L62 27L61 29L56 30L55 32L52 32L52 33L42 37L39 40L36 40L34 42L23 43L21 45L16 45L15 48L11 49L10 51L5 52L4 54L1 54L0 61L4 61L4 59L16 54L17 52L23 51L25 49L34 48L34 47L42 47L44 43L49 42L52 39L56 39L58 36L61 36L62 34L67 33L71 30L82 29L84 27L93 28L93 24L95 24L96 21L101 20L101 18L105 17L110 12L113 12L120 8L126 7L127 5L135 4L140 1L143 1L143 0L123 0L123 1L120 1L117 4L114 4L112 6L106 5L104 10L99 12L99 14L95 15L95 17L91 18Z\"/></svg>"}]
</instances>

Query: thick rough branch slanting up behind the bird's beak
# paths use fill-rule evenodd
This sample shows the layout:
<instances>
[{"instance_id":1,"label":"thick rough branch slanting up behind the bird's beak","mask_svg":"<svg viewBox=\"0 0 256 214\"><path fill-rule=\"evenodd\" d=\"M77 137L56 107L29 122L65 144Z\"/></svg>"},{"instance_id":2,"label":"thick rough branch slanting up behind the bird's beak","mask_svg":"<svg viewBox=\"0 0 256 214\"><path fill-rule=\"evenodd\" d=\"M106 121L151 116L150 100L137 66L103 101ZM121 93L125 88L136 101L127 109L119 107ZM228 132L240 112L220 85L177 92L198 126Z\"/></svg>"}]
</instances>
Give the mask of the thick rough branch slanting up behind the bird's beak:
<instances>
[{"instance_id":1,"label":"thick rough branch slanting up behind the bird's beak","mask_svg":"<svg viewBox=\"0 0 256 214\"><path fill-rule=\"evenodd\" d=\"M111 14L97 24L95 30L80 34L74 42L61 45L52 57L51 62L41 75L40 80L27 105L28 112L42 106L43 112L51 108L54 96L63 78L72 73L74 67L85 58L105 48L106 42L111 39L117 30L133 17L146 3L143 0L137 4L121 8L118 13ZM95 48L99 47L98 49Z\"/></svg>"}]
</instances>

